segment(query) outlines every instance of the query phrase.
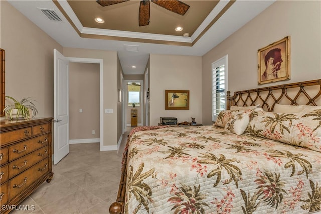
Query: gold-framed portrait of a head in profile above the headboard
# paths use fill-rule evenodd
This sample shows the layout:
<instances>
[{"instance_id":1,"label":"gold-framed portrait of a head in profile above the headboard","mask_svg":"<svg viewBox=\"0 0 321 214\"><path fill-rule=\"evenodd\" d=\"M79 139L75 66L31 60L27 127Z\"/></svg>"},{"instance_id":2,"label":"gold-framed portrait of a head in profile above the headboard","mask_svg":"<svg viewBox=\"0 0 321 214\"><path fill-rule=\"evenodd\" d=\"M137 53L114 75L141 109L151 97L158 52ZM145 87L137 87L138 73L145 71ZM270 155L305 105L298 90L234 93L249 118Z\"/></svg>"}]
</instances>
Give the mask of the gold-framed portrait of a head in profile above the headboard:
<instances>
[{"instance_id":1,"label":"gold-framed portrait of a head in profile above the headboard","mask_svg":"<svg viewBox=\"0 0 321 214\"><path fill-rule=\"evenodd\" d=\"M258 50L258 84L290 79L290 36Z\"/></svg>"}]
</instances>

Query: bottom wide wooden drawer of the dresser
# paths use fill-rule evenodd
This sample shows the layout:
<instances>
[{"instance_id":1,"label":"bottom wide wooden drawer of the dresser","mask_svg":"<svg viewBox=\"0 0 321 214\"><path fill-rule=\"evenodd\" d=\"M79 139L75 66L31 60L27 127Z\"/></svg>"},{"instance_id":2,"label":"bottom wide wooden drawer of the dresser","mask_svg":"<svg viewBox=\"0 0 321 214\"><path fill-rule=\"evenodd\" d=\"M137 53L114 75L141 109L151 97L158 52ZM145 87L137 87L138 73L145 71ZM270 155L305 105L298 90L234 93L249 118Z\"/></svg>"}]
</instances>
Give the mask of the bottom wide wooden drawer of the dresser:
<instances>
[{"instance_id":1,"label":"bottom wide wooden drawer of the dresser","mask_svg":"<svg viewBox=\"0 0 321 214\"><path fill-rule=\"evenodd\" d=\"M48 158L46 158L9 180L9 200L13 199L28 186L32 185L38 178L48 172L48 168Z\"/></svg>"}]
</instances>

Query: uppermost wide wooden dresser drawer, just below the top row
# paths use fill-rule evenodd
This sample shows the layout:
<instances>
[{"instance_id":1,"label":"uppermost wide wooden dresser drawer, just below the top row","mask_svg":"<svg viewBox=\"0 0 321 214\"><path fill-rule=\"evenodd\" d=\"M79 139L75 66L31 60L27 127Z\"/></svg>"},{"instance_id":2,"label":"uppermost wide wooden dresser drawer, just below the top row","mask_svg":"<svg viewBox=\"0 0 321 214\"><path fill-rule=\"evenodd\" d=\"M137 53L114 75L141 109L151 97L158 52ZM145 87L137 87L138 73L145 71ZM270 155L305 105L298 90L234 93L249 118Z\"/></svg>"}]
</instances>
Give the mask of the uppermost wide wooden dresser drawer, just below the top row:
<instances>
[{"instance_id":1,"label":"uppermost wide wooden dresser drawer, just below the top row","mask_svg":"<svg viewBox=\"0 0 321 214\"><path fill-rule=\"evenodd\" d=\"M9 161L20 158L36 149L47 145L49 141L48 133L26 141L9 146Z\"/></svg>"}]
</instances>

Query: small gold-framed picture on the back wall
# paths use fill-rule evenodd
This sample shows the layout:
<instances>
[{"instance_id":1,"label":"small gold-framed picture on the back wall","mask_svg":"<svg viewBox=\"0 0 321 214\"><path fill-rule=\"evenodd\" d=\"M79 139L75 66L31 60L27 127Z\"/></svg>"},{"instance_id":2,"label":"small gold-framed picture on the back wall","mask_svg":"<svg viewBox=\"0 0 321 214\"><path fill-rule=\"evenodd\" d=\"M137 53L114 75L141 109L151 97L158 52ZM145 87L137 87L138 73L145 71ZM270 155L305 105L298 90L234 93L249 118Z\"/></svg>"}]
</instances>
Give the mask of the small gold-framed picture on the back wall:
<instances>
[{"instance_id":1,"label":"small gold-framed picture on the back wall","mask_svg":"<svg viewBox=\"0 0 321 214\"><path fill-rule=\"evenodd\" d=\"M165 90L165 109L190 109L189 90Z\"/></svg>"}]
</instances>

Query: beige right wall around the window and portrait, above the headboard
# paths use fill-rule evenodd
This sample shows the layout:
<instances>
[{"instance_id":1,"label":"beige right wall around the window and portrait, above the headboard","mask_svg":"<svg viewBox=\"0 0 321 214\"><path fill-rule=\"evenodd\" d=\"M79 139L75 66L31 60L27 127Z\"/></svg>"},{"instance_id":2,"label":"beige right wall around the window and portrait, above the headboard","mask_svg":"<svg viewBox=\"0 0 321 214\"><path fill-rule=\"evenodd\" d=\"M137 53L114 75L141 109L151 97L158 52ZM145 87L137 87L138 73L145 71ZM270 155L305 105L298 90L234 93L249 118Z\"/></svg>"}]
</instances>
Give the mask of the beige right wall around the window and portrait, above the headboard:
<instances>
[{"instance_id":1,"label":"beige right wall around the window and portrait, above the headboard","mask_svg":"<svg viewBox=\"0 0 321 214\"><path fill-rule=\"evenodd\" d=\"M257 51L291 37L291 79L257 84ZM234 91L321 78L321 1L276 1L202 57L203 123L211 121L211 63L228 55Z\"/></svg>"}]
</instances>

